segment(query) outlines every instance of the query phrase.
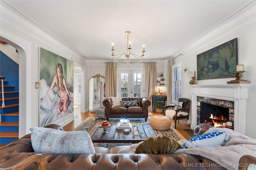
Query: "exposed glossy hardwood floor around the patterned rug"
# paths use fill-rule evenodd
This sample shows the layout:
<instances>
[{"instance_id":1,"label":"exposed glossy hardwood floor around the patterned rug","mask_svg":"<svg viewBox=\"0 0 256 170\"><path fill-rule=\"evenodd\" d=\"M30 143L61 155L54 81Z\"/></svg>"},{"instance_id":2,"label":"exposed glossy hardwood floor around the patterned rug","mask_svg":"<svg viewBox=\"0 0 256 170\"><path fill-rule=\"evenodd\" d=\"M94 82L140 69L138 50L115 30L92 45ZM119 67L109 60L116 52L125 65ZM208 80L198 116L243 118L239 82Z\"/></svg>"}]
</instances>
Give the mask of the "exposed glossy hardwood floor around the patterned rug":
<instances>
[{"instance_id":1,"label":"exposed glossy hardwood floor around the patterned rug","mask_svg":"<svg viewBox=\"0 0 256 170\"><path fill-rule=\"evenodd\" d=\"M78 125L80 125L85 119L88 117L95 117L96 112L85 112L85 113L80 113L80 106L76 107L74 109L74 120L68 123L63 127L64 131L73 131ZM154 115L164 115L163 113L154 113L152 112L153 115L149 115L148 117L152 117ZM172 120L172 127L174 127L174 121ZM187 123L184 123L182 121L177 122L177 131L186 139L189 139L191 136L188 135L183 129L191 129Z\"/></svg>"}]
</instances>

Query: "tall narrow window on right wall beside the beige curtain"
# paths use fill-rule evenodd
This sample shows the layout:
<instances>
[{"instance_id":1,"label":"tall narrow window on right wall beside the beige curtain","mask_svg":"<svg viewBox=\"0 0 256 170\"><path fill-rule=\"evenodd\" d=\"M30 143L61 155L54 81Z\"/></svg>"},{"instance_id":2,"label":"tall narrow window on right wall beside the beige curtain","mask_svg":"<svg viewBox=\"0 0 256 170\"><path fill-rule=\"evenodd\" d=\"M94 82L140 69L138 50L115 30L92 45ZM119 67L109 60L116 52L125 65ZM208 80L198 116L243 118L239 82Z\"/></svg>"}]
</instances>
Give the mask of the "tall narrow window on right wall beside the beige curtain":
<instances>
[{"instance_id":1,"label":"tall narrow window on right wall beside the beige curtain","mask_svg":"<svg viewBox=\"0 0 256 170\"><path fill-rule=\"evenodd\" d=\"M173 91L172 101L181 98L181 66L173 67Z\"/></svg>"}]
</instances>

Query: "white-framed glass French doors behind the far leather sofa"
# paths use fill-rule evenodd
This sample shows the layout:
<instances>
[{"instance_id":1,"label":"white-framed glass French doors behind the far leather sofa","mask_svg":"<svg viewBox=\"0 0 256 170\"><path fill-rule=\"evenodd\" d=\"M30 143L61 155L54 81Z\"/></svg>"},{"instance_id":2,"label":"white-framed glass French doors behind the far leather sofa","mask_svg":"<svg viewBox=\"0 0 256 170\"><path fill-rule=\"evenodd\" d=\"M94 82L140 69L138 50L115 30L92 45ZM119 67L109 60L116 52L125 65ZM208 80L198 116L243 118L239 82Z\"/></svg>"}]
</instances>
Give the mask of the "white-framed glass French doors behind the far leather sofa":
<instances>
[{"instance_id":1,"label":"white-framed glass French doors behind the far leather sofa","mask_svg":"<svg viewBox=\"0 0 256 170\"><path fill-rule=\"evenodd\" d=\"M143 70L118 70L118 96L144 96Z\"/></svg>"}]
</instances>

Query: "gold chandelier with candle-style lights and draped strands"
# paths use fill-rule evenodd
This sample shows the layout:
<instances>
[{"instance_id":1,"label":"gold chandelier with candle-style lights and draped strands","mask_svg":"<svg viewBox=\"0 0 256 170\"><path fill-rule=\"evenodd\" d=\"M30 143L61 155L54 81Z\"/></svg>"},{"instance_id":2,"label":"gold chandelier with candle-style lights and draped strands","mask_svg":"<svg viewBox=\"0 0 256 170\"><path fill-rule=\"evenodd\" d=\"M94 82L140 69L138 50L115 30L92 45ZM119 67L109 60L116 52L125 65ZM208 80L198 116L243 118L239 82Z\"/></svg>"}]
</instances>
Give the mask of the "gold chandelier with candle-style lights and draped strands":
<instances>
[{"instance_id":1,"label":"gold chandelier with candle-style lights and draped strands","mask_svg":"<svg viewBox=\"0 0 256 170\"><path fill-rule=\"evenodd\" d=\"M142 49L142 55L136 55L134 53L130 53L130 50L132 49L131 48L131 41L129 42L129 34L131 32L130 31L126 31L125 34L127 35L127 53L121 53L121 54L118 54L118 55L115 55L114 54L114 44L112 43L112 58L114 59L114 65L116 65L116 63L118 64L124 64L125 63L125 66L127 64L129 64L131 66L131 63L133 64L139 64L139 63L142 63L142 59L144 57L144 52L145 52L145 45L143 45L143 49ZM129 42L129 43L128 43ZM124 58L124 62L119 62L118 59L121 57L121 56L125 56ZM134 62L130 57L133 56L135 57L136 59L138 59L138 62Z\"/></svg>"}]
</instances>

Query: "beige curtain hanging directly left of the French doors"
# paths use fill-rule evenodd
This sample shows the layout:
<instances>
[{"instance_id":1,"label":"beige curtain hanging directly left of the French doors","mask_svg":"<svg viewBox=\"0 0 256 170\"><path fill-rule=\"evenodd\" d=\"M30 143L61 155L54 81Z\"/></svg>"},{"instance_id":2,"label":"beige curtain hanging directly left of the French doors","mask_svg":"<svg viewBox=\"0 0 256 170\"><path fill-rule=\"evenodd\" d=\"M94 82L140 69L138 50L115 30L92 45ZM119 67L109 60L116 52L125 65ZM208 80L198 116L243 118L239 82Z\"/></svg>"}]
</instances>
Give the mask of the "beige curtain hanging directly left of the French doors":
<instances>
[{"instance_id":1,"label":"beige curtain hanging directly left of the French doors","mask_svg":"<svg viewBox=\"0 0 256 170\"><path fill-rule=\"evenodd\" d=\"M114 63L106 63L106 84L105 84L106 98L116 97L116 88L117 88L116 65L114 66Z\"/></svg>"}]
</instances>

